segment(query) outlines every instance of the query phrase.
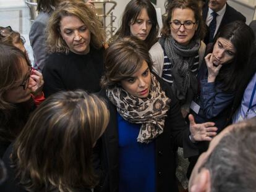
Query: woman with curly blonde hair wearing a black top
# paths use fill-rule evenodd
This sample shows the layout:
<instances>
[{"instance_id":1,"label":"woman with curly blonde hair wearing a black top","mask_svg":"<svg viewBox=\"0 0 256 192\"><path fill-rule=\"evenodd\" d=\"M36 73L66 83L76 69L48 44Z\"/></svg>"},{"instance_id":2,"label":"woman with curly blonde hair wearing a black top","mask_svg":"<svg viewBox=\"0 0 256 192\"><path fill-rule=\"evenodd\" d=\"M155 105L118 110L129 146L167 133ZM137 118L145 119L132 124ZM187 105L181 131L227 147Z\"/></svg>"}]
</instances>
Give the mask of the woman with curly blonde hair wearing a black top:
<instances>
[{"instance_id":1,"label":"woman with curly blonde hair wearing a black top","mask_svg":"<svg viewBox=\"0 0 256 192\"><path fill-rule=\"evenodd\" d=\"M100 91L105 33L95 12L85 2L61 2L47 31L51 54L43 69L45 96L61 90Z\"/></svg>"}]
</instances>

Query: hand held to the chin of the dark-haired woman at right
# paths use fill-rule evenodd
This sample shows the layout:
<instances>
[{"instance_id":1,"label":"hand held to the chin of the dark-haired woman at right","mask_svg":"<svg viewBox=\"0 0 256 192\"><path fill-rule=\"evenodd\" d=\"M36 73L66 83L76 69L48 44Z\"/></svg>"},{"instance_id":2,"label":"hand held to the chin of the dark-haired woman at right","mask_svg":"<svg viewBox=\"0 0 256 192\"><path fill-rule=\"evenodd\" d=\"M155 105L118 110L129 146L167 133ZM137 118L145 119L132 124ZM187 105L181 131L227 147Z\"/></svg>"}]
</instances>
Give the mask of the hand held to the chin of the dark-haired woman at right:
<instances>
[{"instance_id":1,"label":"hand held to the chin of the dark-haired woman at right","mask_svg":"<svg viewBox=\"0 0 256 192\"><path fill-rule=\"evenodd\" d=\"M207 69L208 69L208 83L214 82L218 73L220 72L222 65L213 64L213 55L211 53L209 53L205 57L205 62L207 64Z\"/></svg>"}]
</instances>

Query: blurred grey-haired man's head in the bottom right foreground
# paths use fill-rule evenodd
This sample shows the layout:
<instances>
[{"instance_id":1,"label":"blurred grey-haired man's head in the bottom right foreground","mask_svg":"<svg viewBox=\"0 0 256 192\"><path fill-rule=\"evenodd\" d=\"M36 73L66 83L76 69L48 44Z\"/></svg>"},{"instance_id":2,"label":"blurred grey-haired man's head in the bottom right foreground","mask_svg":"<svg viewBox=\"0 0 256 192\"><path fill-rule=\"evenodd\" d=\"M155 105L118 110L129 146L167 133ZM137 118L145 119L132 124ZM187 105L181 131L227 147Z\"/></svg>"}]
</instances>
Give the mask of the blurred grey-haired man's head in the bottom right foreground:
<instances>
[{"instance_id":1,"label":"blurred grey-haired man's head in the bottom right foreground","mask_svg":"<svg viewBox=\"0 0 256 192\"><path fill-rule=\"evenodd\" d=\"M255 191L256 117L230 125L198 159L190 192Z\"/></svg>"}]
</instances>

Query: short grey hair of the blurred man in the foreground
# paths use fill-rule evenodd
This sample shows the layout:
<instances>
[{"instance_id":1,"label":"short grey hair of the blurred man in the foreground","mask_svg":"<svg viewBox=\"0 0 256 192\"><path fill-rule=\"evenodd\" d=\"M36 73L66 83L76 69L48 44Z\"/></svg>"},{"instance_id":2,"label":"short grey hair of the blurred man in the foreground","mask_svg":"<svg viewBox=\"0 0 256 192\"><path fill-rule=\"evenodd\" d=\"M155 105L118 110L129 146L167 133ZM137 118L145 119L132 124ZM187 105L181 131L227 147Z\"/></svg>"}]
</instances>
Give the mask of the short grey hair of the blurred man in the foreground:
<instances>
[{"instance_id":1,"label":"short grey hair of the blurred man in the foreground","mask_svg":"<svg viewBox=\"0 0 256 192\"><path fill-rule=\"evenodd\" d=\"M256 117L234 126L201 167L210 171L211 192L255 191Z\"/></svg>"}]
</instances>

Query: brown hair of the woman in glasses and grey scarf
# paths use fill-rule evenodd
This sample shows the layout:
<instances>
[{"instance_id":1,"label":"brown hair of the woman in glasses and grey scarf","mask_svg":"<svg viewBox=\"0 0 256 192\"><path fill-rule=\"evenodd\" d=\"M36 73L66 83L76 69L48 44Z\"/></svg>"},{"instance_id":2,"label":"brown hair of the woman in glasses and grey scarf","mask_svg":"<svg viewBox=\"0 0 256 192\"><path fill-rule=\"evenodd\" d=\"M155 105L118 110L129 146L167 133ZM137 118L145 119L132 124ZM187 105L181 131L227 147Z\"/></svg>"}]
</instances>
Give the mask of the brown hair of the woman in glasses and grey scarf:
<instances>
[{"instance_id":1,"label":"brown hair of the woman in glasses and grey scarf","mask_svg":"<svg viewBox=\"0 0 256 192\"><path fill-rule=\"evenodd\" d=\"M166 9L166 11L168 12L168 17L163 22L161 35L163 35L164 37L168 37L169 35L171 35L171 27L169 22L171 22L171 16L174 9L191 9L194 12L195 22L198 25L197 30L195 31L195 35L192 39L203 40L206 27L205 23L203 22L201 10L198 6L197 0L173 0L166 6Z\"/></svg>"}]
</instances>

